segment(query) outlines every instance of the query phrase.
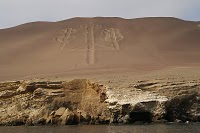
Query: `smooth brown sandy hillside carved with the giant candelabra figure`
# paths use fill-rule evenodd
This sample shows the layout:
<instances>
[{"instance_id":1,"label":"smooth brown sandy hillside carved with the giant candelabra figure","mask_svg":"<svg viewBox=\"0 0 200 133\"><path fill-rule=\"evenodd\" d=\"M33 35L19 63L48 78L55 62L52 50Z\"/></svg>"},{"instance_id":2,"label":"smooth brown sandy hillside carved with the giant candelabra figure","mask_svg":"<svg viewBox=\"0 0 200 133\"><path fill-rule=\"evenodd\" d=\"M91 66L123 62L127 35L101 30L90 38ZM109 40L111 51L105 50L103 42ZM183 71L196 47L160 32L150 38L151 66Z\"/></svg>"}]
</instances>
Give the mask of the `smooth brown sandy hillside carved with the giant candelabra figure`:
<instances>
[{"instance_id":1,"label":"smooth brown sandy hillside carved with the giant candelabra figure","mask_svg":"<svg viewBox=\"0 0 200 133\"><path fill-rule=\"evenodd\" d=\"M0 80L198 65L200 22L73 18L0 30Z\"/></svg>"}]
</instances>

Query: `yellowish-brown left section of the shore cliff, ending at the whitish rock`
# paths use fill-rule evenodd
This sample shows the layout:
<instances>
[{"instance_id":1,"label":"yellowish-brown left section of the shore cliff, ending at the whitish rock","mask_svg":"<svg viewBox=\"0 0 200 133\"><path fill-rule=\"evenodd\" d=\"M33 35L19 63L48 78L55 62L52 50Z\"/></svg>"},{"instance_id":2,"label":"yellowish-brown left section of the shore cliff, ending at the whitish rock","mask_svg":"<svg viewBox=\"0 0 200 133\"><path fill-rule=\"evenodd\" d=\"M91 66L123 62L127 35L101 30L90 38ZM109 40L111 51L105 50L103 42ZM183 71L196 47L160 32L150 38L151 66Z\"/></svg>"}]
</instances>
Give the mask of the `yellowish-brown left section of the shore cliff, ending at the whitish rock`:
<instances>
[{"instance_id":1,"label":"yellowish-brown left section of the shore cliff, ending at the whitish rock","mask_svg":"<svg viewBox=\"0 0 200 133\"><path fill-rule=\"evenodd\" d=\"M66 124L68 116L76 124L82 121L80 115L97 116L104 109L103 87L88 80L10 82L1 87L2 125Z\"/></svg>"}]
</instances>

